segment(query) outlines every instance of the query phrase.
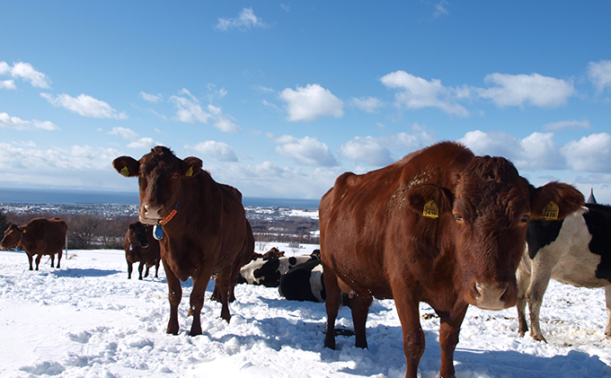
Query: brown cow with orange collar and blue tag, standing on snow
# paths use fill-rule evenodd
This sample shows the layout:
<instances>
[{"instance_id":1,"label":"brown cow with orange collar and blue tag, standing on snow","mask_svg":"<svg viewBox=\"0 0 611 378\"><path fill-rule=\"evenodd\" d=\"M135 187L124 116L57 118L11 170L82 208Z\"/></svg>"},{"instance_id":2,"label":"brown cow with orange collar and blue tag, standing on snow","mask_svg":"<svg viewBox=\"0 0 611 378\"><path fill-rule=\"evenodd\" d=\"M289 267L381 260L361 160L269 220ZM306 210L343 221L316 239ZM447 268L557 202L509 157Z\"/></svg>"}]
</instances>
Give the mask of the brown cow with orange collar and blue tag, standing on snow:
<instances>
[{"instance_id":1,"label":"brown cow with orange collar and blue tag, standing on snow","mask_svg":"<svg viewBox=\"0 0 611 378\"><path fill-rule=\"evenodd\" d=\"M178 334L181 281L189 277L190 334L201 334L199 313L212 275L217 276L223 303L221 318L229 321L232 277L242 268L241 258L248 254L244 250L254 249L240 191L212 180L197 157L181 160L164 146L156 146L139 161L120 156L112 165L126 177L138 177L140 222L155 224L160 239L170 301L167 333Z\"/></svg>"}]
</instances>

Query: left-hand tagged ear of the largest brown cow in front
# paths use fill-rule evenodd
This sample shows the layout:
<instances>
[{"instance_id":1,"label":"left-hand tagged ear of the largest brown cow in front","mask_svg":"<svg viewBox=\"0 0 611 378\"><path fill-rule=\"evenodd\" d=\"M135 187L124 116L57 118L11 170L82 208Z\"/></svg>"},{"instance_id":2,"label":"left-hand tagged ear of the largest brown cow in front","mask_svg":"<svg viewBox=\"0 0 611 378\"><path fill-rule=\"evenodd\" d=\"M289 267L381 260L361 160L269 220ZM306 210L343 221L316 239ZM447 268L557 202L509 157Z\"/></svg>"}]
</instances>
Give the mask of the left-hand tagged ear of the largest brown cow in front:
<instances>
[{"instance_id":1,"label":"left-hand tagged ear of the largest brown cow in front","mask_svg":"<svg viewBox=\"0 0 611 378\"><path fill-rule=\"evenodd\" d=\"M428 218L450 213L453 198L449 189L429 184L410 189L407 193L407 201L412 210Z\"/></svg>"}]
</instances>

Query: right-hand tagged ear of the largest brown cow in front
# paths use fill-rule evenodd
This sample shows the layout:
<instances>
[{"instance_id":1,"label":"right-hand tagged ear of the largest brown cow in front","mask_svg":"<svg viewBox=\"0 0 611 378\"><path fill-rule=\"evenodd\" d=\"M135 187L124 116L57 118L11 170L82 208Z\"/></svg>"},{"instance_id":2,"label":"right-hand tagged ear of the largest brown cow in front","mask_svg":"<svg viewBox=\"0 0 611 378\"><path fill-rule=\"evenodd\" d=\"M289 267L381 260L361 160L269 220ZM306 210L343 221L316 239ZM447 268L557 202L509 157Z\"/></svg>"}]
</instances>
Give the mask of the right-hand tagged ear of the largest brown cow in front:
<instances>
[{"instance_id":1,"label":"right-hand tagged ear of the largest brown cow in front","mask_svg":"<svg viewBox=\"0 0 611 378\"><path fill-rule=\"evenodd\" d=\"M530 219L562 220L583 206L583 194L558 181L530 190Z\"/></svg>"}]
</instances>

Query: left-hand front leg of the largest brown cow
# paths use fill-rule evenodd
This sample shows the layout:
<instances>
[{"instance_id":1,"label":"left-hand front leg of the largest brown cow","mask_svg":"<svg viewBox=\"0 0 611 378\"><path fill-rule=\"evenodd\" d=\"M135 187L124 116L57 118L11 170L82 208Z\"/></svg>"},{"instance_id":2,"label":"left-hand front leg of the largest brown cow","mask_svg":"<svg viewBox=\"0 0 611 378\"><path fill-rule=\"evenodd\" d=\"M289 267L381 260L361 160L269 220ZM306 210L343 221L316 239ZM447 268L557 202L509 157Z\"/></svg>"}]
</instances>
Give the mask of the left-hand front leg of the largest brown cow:
<instances>
[{"instance_id":1,"label":"left-hand front leg of the largest brown cow","mask_svg":"<svg viewBox=\"0 0 611 378\"><path fill-rule=\"evenodd\" d=\"M394 295L394 303L403 330L403 353L407 365L405 378L416 378L418 376L418 364L426 345L424 331L420 323L419 302L412 298L406 287L399 291L393 290L393 292L407 293Z\"/></svg>"}]
</instances>

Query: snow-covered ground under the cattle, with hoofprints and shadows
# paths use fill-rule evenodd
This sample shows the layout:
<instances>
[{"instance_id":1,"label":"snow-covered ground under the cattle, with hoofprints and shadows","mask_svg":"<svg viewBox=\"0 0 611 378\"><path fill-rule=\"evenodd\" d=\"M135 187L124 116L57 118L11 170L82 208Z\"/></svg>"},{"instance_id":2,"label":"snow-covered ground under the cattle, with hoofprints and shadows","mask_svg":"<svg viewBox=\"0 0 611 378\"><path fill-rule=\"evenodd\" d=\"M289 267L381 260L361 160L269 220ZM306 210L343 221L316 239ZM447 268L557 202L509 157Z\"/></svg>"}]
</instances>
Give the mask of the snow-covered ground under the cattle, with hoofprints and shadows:
<instances>
[{"instance_id":1,"label":"snow-covered ground under the cattle, with hoofprints and shadows","mask_svg":"<svg viewBox=\"0 0 611 378\"><path fill-rule=\"evenodd\" d=\"M273 245L272 245L273 244ZM305 254L280 243L288 255ZM166 335L167 286L160 277L128 280L123 251L69 251L62 268L29 271L23 252L0 252L0 376L2 377L402 377L405 358L394 302L374 301L367 321L369 349L338 337L323 347L323 303L291 302L275 288L238 285L231 323L207 300L203 335L192 338L183 285L181 333ZM44 264L43 264L44 263ZM208 286L208 297L212 285ZM439 366L438 319L421 304L427 347L422 377ZM611 376L611 341L602 289L552 282L541 311L548 344L518 337L516 309L470 307L456 348L458 377ZM350 328L350 309L339 327Z\"/></svg>"}]
</instances>

